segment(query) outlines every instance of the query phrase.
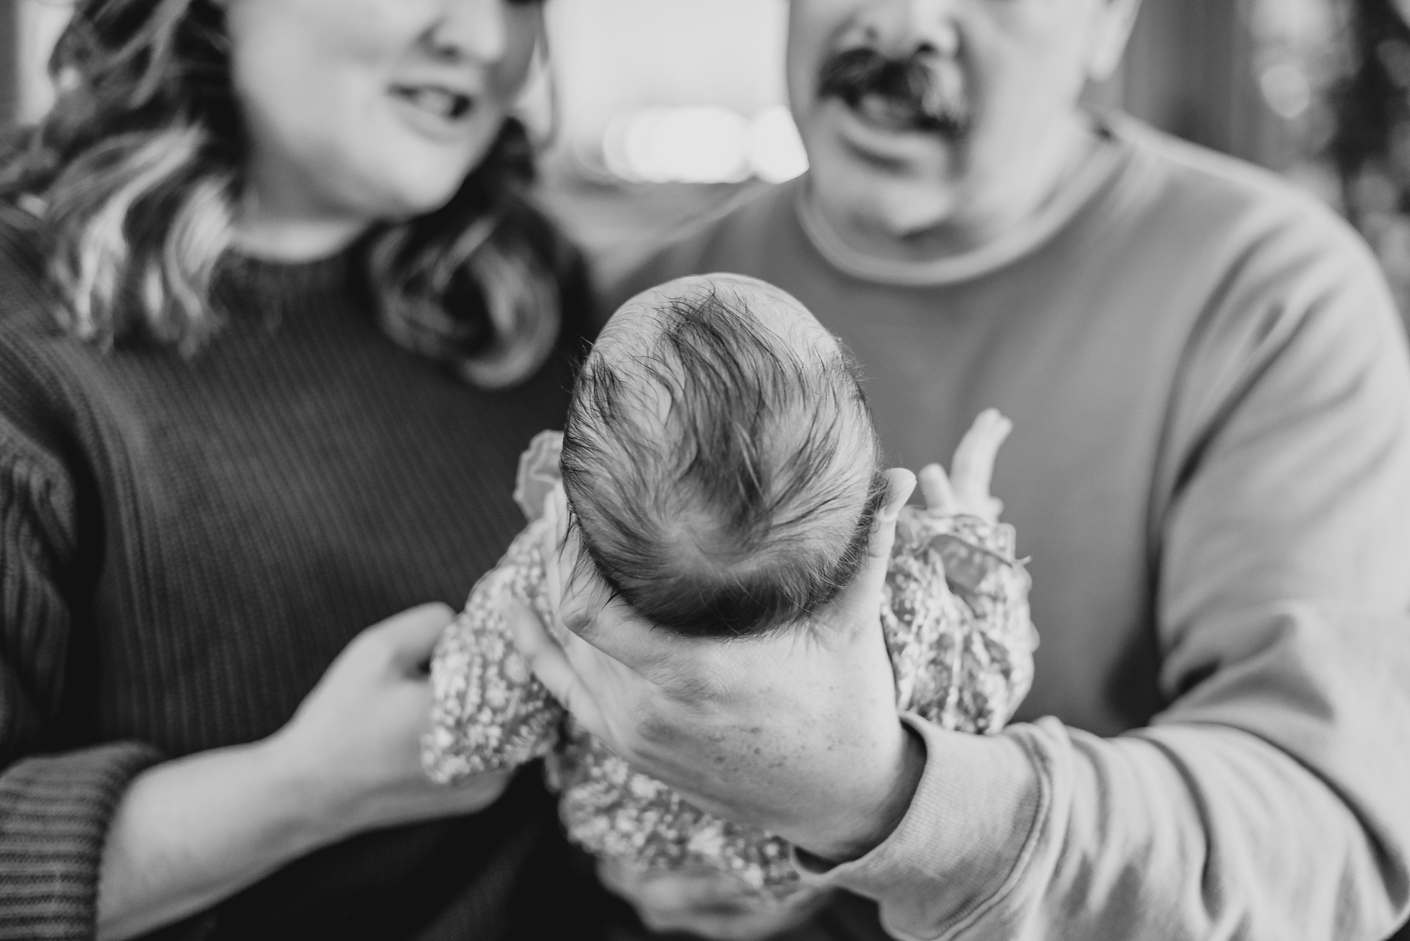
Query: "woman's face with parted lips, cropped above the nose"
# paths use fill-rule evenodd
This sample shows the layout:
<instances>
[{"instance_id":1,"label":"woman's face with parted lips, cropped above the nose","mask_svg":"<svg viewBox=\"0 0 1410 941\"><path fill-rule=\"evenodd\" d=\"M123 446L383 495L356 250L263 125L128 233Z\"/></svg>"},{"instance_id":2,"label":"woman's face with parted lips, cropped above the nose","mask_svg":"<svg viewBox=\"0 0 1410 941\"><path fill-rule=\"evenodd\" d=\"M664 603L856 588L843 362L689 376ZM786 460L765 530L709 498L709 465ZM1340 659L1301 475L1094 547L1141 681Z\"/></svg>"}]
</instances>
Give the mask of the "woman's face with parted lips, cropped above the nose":
<instances>
[{"instance_id":1,"label":"woman's face with parted lips, cropped above the nose","mask_svg":"<svg viewBox=\"0 0 1410 941\"><path fill-rule=\"evenodd\" d=\"M261 212L395 220L444 205L526 80L533 0L223 0Z\"/></svg>"}]
</instances>

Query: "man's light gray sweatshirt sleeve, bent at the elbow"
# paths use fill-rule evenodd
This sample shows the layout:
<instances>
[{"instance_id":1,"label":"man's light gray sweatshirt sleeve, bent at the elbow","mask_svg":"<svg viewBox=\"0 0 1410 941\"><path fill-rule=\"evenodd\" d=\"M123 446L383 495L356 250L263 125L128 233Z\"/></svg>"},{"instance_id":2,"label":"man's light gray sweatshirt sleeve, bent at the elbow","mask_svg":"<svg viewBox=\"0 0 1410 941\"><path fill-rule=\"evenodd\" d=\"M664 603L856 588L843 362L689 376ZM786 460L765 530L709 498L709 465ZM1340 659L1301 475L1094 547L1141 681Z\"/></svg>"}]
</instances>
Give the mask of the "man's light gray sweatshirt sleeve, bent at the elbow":
<instances>
[{"instance_id":1,"label":"man's light gray sweatshirt sleeve, bent at the elbow","mask_svg":"<svg viewBox=\"0 0 1410 941\"><path fill-rule=\"evenodd\" d=\"M1172 396L1151 533L1169 705L1114 739L907 717L928 758L900 827L801 861L897 937L1379 941L1407 911L1404 337L1349 240L1275 248L1241 260Z\"/></svg>"}]
</instances>

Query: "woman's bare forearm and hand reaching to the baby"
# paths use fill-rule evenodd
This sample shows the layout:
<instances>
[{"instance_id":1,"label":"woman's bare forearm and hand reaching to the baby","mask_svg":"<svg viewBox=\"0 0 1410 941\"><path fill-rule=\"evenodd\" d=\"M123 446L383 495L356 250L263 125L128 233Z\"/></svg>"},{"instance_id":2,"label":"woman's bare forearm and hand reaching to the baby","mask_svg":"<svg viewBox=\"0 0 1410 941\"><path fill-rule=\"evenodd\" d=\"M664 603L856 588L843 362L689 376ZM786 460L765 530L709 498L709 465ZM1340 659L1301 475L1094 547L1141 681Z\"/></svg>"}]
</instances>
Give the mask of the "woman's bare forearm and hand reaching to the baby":
<instances>
[{"instance_id":1,"label":"woman's bare forearm and hand reaching to the baby","mask_svg":"<svg viewBox=\"0 0 1410 941\"><path fill-rule=\"evenodd\" d=\"M368 628L271 738L138 775L103 849L99 937L178 921L352 834L494 803L509 775L441 787L420 769L424 664L450 618L427 605Z\"/></svg>"}]
</instances>

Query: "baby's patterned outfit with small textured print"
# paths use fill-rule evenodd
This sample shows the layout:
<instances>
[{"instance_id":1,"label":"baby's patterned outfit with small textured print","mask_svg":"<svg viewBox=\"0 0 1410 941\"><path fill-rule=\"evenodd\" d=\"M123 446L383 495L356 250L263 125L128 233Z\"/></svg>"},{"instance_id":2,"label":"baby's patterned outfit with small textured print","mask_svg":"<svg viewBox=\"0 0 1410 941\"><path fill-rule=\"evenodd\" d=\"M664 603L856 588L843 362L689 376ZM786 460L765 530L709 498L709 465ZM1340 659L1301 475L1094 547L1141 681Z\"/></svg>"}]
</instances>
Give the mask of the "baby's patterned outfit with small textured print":
<instances>
[{"instance_id":1,"label":"baby's patterned outfit with small textured print","mask_svg":"<svg viewBox=\"0 0 1410 941\"><path fill-rule=\"evenodd\" d=\"M633 770L564 712L515 649L508 598L553 624L540 545L561 443L544 432L525 451L515 499L533 522L436 648L426 773L450 784L546 758L568 835L594 855L639 872L721 869L763 900L797 899L804 890L787 842L708 814ZM898 707L948 729L998 732L1032 681L1028 584L1011 526L907 506L881 604Z\"/></svg>"}]
</instances>

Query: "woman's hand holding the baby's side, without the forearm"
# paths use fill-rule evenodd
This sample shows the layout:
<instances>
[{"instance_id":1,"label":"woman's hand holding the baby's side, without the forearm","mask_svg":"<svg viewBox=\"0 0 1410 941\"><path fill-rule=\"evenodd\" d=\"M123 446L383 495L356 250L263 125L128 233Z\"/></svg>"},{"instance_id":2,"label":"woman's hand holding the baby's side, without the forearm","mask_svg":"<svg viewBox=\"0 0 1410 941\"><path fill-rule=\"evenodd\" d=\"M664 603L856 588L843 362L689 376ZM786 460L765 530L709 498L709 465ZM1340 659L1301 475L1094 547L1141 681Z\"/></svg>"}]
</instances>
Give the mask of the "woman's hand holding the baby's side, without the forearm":
<instances>
[{"instance_id":1,"label":"woman's hand holding the baby's side, without the forearm","mask_svg":"<svg viewBox=\"0 0 1410 941\"><path fill-rule=\"evenodd\" d=\"M272 760L303 782L310 807L333 827L327 837L474 813L509 783L505 772L444 787L422 772L426 664L453 617L433 604L360 633L269 739Z\"/></svg>"}]
</instances>

